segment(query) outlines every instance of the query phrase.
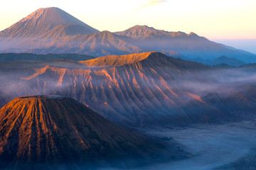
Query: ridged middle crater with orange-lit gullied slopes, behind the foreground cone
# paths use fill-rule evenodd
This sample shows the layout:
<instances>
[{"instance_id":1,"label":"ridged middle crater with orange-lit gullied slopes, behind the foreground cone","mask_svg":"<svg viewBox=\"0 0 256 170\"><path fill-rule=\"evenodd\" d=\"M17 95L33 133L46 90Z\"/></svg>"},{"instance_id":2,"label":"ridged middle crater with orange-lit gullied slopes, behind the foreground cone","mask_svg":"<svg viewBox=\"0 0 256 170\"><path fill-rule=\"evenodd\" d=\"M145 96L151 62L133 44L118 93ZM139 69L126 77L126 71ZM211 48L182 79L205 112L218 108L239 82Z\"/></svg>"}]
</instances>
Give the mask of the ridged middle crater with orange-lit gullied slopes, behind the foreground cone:
<instances>
[{"instance_id":1,"label":"ridged middle crater with orange-lit gullied slopes, behind the foreground cone","mask_svg":"<svg viewBox=\"0 0 256 170\"><path fill-rule=\"evenodd\" d=\"M180 84L206 81L208 67L167 57L159 52L107 56L80 62L88 69L46 66L2 87L2 96L58 94L81 103L116 123L183 125L218 122L226 114Z\"/></svg>"}]
</instances>

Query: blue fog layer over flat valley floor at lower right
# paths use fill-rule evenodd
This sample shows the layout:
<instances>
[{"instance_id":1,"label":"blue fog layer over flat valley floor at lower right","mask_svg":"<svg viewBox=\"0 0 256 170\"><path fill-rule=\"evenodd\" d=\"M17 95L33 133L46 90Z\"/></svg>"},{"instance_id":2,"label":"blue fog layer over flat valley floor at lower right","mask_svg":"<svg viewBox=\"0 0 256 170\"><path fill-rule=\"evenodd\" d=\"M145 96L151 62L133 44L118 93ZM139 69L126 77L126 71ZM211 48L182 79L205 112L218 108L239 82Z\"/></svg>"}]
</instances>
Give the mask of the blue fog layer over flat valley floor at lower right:
<instances>
[{"instance_id":1,"label":"blue fog layer over flat valley floor at lower right","mask_svg":"<svg viewBox=\"0 0 256 170\"><path fill-rule=\"evenodd\" d=\"M253 122L226 125L197 125L193 128L144 130L155 137L173 137L193 156L178 162L154 164L140 169L212 170L247 156L256 147ZM255 166L252 164L252 167ZM110 170L110 169L102 169ZM116 169L117 170L117 169ZM135 170L135 169L134 169Z\"/></svg>"}]
</instances>

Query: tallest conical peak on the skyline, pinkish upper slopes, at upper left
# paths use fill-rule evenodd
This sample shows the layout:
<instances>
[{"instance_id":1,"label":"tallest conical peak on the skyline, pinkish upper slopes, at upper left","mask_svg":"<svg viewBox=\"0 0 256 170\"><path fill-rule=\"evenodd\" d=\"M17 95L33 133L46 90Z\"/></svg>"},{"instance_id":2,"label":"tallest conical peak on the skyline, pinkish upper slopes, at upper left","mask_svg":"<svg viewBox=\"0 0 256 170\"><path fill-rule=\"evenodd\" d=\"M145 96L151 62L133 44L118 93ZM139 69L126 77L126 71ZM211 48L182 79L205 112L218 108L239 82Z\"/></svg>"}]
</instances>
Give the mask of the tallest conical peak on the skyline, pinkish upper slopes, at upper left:
<instances>
[{"instance_id":1,"label":"tallest conical peak on the skyline, pinkish upper slopes, at upper left","mask_svg":"<svg viewBox=\"0 0 256 170\"><path fill-rule=\"evenodd\" d=\"M11 38L35 38L46 33L50 34L49 31L53 30L53 28L67 25L82 27L80 29L84 31L80 31L80 33L91 34L99 32L62 9L50 7L38 8L38 10L21 19L13 26L1 31L1 35ZM75 35L75 33L72 34Z\"/></svg>"}]
</instances>

